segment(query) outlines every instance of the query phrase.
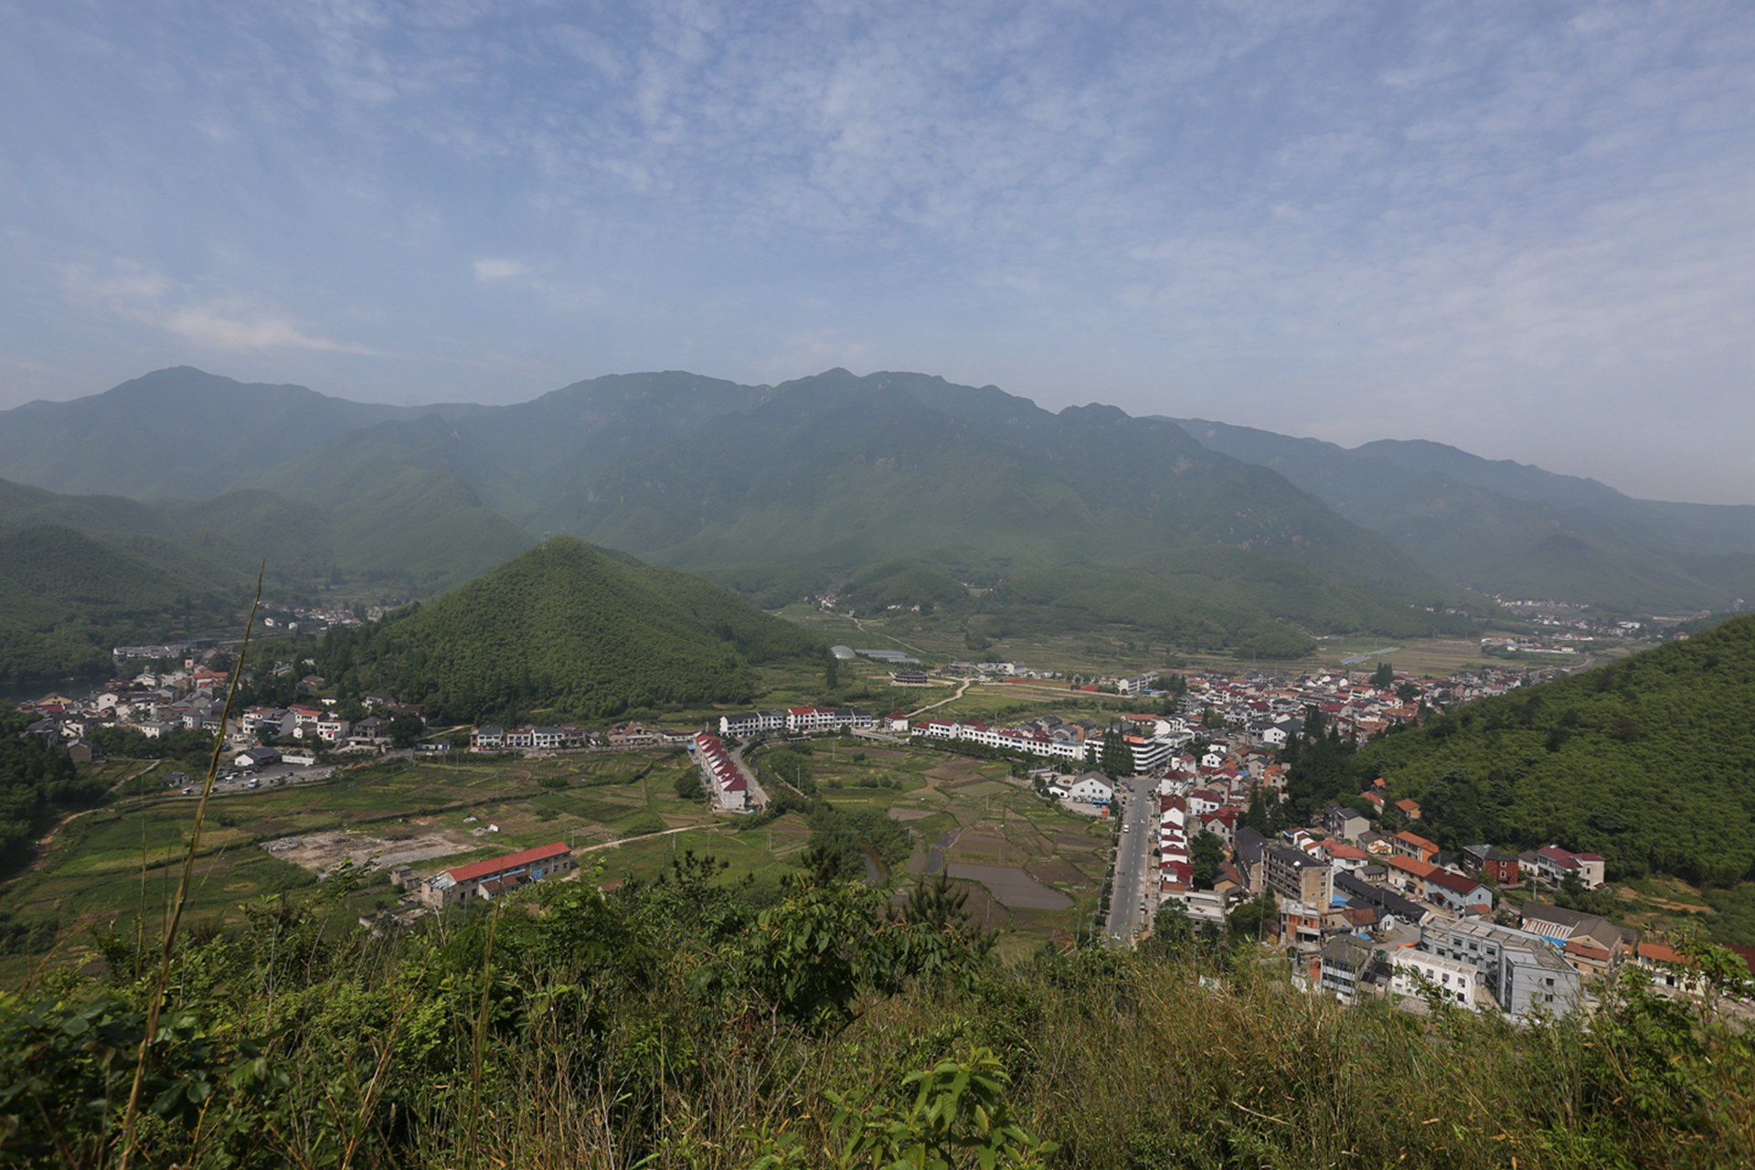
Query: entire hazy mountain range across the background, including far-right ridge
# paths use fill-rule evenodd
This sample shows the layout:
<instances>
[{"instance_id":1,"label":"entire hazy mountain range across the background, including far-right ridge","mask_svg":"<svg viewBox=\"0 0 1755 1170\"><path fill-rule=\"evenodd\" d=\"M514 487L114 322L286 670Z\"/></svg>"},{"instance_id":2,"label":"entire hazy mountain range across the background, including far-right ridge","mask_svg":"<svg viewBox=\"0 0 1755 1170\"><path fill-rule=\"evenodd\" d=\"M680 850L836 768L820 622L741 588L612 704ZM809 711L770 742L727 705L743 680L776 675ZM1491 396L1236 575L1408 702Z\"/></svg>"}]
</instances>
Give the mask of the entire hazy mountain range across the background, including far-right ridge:
<instances>
[{"instance_id":1,"label":"entire hazy mountain range across the background, including far-right ridge","mask_svg":"<svg viewBox=\"0 0 1755 1170\"><path fill-rule=\"evenodd\" d=\"M142 426L144 414L161 417ZM767 605L860 579L886 603L1079 610L1199 646L1241 644L1264 623L1413 637L1436 628L1434 614L1464 633L1443 610L1490 609L1471 589L1727 609L1744 579L1755 588L1755 519L1744 542L1736 509L1708 512L1678 542L1676 517L1699 516L1687 505L1443 444L1383 440L1357 454L1100 402L1049 412L997 386L909 372L741 386L667 370L512 405L390 407L179 367L0 412L0 475L30 481L54 451L58 482L160 498L211 488L191 495L226 498L216 524L254 517L253 547L286 517L309 530L281 549L295 563L400 574L416 595L551 533ZM1492 488L1501 479L1525 495L1550 481L1564 491L1511 498ZM1627 507L1604 516L1581 500ZM944 602L946 579L979 600Z\"/></svg>"}]
</instances>

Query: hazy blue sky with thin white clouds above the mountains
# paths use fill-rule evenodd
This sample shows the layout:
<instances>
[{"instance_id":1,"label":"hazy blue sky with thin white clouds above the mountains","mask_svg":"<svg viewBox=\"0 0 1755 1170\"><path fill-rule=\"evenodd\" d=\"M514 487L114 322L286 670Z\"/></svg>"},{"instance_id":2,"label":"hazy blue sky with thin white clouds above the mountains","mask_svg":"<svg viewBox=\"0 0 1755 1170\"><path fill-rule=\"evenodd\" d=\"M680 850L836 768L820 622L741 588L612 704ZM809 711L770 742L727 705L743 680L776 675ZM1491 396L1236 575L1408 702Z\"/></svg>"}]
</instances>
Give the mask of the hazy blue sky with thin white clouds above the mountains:
<instances>
[{"instance_id":1,"label":"hazy blue sky with thin white clouds above the mountains","mask_svg":"<svg viewBox=\"0 0 1755 1170\"><path fill-rule=\"evenodd\" d=\"M1755 502L1755 5L0 0L0 407L842 365Z\"/></svg>"}]
</instances>

